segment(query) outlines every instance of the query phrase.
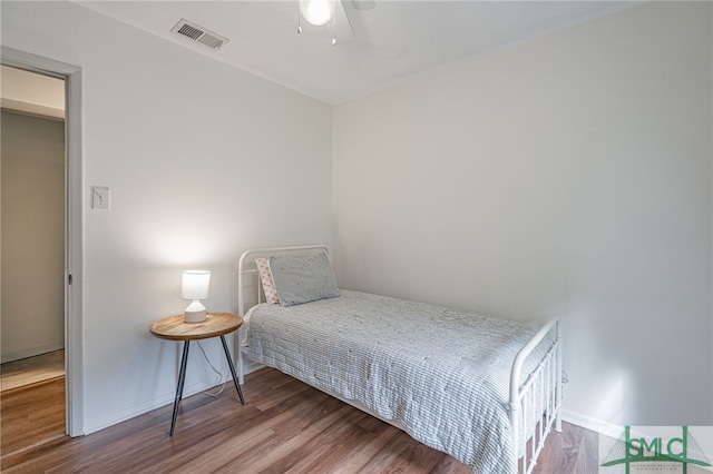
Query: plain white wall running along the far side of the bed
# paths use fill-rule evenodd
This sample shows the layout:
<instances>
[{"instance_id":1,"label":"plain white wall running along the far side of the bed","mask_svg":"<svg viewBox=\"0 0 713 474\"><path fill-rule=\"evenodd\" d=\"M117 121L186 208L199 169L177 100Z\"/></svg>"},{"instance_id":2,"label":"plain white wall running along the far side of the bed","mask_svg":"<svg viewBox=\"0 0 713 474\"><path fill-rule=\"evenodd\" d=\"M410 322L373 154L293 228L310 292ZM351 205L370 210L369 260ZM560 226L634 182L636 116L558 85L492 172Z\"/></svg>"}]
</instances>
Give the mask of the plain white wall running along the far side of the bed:
<instances>
[{"instance_id":1,"label":"plain white wall running along the far side of the bed","mask_svg":"<svg viewBox=\"0 0 713 474\"><path fill-rule=\"evenodd\" d=\"M567 418L713 424L710 2L649 2L334 108L342 287L559 314Z\"/></svg>"}]
</instances>

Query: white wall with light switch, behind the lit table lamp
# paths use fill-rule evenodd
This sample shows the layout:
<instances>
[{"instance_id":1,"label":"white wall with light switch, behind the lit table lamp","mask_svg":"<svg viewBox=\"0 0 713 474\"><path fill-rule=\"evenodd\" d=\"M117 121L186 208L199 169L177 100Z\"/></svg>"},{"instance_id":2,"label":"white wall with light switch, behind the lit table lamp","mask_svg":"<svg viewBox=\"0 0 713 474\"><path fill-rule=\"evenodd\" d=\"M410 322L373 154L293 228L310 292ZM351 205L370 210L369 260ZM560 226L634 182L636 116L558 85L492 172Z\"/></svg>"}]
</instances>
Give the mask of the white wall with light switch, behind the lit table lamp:
<instances>
[{"instance_id":1,"label":"white wall with light switch, behind the lit table lamp","mask_svg":"<svg viewBox=\"0 0 713 474\"><path fill-rule=\"evenodd\" d=\"M209 269L204 303L232 310L242 250L331 244L331 108L71 2L1 14L3 46L82 68L90 433L173 403L180 345L148 326L183 312L183 269ZM89 208L92 185L110 210ZM219 340L203 345L227 374ZM186 393L215 382L194 347Z\"/></svg>"}]
</instances>

